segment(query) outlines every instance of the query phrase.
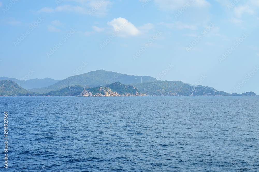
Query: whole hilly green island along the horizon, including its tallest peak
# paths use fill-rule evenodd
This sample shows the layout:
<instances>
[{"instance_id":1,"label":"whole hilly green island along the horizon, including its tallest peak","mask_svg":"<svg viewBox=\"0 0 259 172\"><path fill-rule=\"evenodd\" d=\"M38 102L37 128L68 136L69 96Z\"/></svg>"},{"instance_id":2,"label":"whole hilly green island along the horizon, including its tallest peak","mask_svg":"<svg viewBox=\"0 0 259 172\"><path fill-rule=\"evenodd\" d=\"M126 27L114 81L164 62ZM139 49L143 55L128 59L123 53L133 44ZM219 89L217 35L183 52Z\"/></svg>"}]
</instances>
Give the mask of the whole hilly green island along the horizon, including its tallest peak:
<instances>
[{"instance_id":1,"label":"whole hilly green island along the horizon, including its tallest peak","mask_svg":"<svg viewBox=\"0 0 259 172\"><path fill-rule=\"evenodd\" d=\"M26 81L27 88L54 83L43 88L25 89L21 80L17 80L19 83L14 80L0 80L0 96L256 96L254 92L229 94L181 81L159 81L150 76L130 76L104 70L71 76L62 81L50 78Z\"/></svg>"}]
</instances>

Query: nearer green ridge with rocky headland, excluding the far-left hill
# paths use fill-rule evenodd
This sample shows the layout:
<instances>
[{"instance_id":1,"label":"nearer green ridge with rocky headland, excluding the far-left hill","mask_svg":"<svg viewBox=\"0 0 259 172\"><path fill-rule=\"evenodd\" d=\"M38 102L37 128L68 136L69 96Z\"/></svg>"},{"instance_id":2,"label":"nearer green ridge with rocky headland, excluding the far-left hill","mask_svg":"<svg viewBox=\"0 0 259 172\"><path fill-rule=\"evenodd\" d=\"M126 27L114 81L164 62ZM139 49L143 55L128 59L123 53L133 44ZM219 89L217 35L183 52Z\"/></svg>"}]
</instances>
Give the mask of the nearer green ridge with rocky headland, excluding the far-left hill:
<instances>
[{"instance_id":1,"label":"nearer green ridge with rocky headland, excluding the far-left hill","mask_svg":"<svg viewBox=\"0 0 259 172\"><path fill-rule=\"evenodd\" d=\"M41 95L41 94L39 94ZM115 82L110 85L85 88L83 86L66 87L51 91L45 95L51 96L256 96L254 92L229 94L217 91L213 87L193 86L181 81L157 81L125 85Z\"/></svg>"}]
</instances>

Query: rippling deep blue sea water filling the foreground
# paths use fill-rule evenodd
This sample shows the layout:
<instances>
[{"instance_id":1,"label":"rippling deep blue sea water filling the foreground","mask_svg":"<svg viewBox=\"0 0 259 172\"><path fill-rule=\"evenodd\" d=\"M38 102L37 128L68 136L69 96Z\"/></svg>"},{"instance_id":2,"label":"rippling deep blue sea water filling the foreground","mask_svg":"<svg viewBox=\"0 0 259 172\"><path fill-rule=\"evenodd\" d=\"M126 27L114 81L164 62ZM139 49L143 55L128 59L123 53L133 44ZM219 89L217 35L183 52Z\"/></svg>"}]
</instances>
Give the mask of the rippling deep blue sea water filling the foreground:
<instances>
[{"instance_id":1,"label":"rippling deep blue sea water filling the foreground","mask_svg":"<svg viewBox=\"0 0 259 172\"><path fill-rule=\"evenodd\" d=\"M259 97L0 97L0 171L259 171L258 105Z\"/></svg>"}]
</instances>

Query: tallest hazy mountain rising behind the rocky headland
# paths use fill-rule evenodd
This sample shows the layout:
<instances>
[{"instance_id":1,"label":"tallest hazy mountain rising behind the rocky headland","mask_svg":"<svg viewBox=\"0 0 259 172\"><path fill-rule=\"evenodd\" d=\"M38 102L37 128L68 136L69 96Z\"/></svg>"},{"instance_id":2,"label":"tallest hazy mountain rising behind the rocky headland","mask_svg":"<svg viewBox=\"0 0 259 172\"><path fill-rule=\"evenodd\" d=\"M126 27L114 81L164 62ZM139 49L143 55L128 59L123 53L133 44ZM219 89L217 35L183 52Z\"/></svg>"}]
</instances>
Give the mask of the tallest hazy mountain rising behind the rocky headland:
<instances>
[{"instance_id":1,"label":"tallest hazy mountain rising behind the rocky headland","mask_svg":"<svg viewBox=\"0 0 259 172\"><path fill-rule=\"evenodd\" d=\"M109 72L105 70L97 70L97 71L84 73L81 75L71 76L51 86L48 86L45 88L31 89L31 91L34 91L37 93L47 93L50 91L55 91L58 89L66 88L68 86L75 86L75 85L98 87L98 86L108 85L114 82L120 82L123 84L141 83L141 77L144 83L157 81L155 78L150 76L126 75L126 74L121 74L116 72Z\"/></svg>"}]
</instances>

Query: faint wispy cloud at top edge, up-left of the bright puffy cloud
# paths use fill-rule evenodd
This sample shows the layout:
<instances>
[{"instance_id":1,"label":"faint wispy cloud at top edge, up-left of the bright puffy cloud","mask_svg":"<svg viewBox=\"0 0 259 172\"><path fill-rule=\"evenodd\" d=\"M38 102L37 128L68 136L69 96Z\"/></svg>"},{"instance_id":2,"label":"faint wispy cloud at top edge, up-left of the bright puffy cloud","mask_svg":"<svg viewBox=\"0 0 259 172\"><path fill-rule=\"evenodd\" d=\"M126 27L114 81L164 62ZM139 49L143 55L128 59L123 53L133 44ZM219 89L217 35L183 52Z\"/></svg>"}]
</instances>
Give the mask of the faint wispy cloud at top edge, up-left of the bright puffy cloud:
<instances>
[{"instance_id":1,"label":"faint wispy cloud at top edge, up-left of the bright puffy cloud","mask_svg":"<svg viewBox=\"0 0 259 172\"><path fill-rule=\"evenodd\" d=\"M107 15L108 9L107 7L111 4L109 0L103 0L101 3L100 0L70 0L75 1L78 3L76 6L72 5L62 5L58 6L55 9L44 7L38 12L47 12L47 13L53 13L53 12L72 12L72 13L78 13L83 15L89 15L89 12L91 12L91 15L102 17ZM92 11L94 9L94 11Z\"/></svg>"}]
</instances>

